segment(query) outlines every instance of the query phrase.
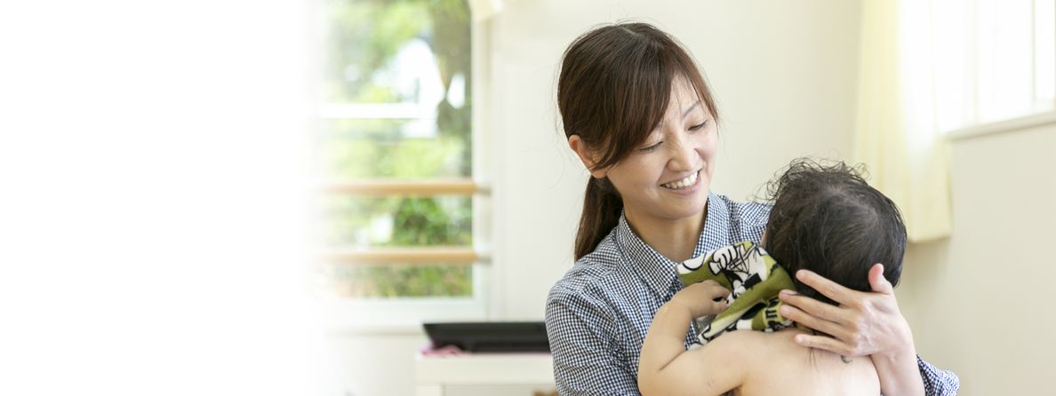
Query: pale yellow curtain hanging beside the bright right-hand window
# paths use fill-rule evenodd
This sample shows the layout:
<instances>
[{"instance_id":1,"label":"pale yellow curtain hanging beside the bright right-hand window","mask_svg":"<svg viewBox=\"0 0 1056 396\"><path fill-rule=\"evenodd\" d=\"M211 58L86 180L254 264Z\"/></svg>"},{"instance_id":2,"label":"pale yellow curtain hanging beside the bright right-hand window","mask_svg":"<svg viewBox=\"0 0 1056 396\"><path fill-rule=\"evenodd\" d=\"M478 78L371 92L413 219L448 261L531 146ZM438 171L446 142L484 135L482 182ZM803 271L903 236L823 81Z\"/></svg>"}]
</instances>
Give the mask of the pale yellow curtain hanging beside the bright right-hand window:
<instances>
[{"instance_id":1,"label":"pale yellow curtain hanging beside the bright right-hand window","mask_svg":"<svg viewBox=\"0 0 1056 396\"><path fill-rule=\"evenodd\" d=\"M909 241L949 235L947 142L935 122L927 7L865 0L853 159L902 210ZM923 43L923 44L922 44Z\"/></svg>"}]
</instances>

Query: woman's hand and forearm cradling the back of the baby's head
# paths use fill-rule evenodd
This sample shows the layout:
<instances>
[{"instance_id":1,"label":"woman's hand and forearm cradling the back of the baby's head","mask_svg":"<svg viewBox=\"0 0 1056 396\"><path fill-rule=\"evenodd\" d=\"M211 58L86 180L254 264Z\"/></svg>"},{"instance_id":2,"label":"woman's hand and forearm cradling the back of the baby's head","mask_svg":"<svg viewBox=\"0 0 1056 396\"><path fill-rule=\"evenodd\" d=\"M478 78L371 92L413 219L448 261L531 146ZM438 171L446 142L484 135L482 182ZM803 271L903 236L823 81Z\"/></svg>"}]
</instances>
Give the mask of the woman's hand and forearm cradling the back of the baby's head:
<instances>
[{"instance_id":1,"label":"woman's hand and forearm cradling the back of the baby's head","mask_svg":"<svg viewBox=\"0 0 1056 396\"><path fill-rule=\"evenodd\" d=\"M847 356L869 355L880 375L881 391L886 395L924 395L922 377L938 377L944 386L928 386L928 395L956 393L956 376L919 364L909 323L902 317L894 290L884 279L884 267L869 270L872 293L843 287L809 270L796 272L796 279L840 303L829 305L807 297L782 291L781 315L832 337L798 335L795 342ZM920 361L923 363L923 361ZM953 376L948 378L946 374ZM953 381L955 384L949 385ZM953 389L954 393L948 393Z\"/></svg>"}]
</instances>

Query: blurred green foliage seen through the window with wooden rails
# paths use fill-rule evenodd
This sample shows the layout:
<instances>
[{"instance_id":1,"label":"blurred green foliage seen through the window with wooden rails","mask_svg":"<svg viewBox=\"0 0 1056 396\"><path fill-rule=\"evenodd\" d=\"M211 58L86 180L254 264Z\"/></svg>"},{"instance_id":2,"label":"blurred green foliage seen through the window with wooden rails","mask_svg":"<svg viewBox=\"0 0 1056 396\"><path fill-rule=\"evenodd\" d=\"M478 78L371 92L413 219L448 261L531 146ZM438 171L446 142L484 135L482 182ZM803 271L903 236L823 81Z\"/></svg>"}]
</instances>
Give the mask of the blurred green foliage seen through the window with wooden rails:
<instances>
[{"instance_id":1,"label":"blurred green foliage seen through the window with wooden rails","mask_svg":"<svg viewBox=\"0 0 1056 396\"><path fill-rule=\"evenodd\" d=\"M435 119L323 122L321 173L332 180L470 176L472 75L466 1L331 0L326 17L322 101L421 102L430 80L411 80L408 86L400 75L400 64L408 63L400 63L400 57L421 43L432 54L442 94L437 96ZM322 215L329 247L472 245L468 196L329 196ZM344 297L472 295L471 267L460 265L331 264L323 276L328 291Z\"/></svg>"}]
</instances>

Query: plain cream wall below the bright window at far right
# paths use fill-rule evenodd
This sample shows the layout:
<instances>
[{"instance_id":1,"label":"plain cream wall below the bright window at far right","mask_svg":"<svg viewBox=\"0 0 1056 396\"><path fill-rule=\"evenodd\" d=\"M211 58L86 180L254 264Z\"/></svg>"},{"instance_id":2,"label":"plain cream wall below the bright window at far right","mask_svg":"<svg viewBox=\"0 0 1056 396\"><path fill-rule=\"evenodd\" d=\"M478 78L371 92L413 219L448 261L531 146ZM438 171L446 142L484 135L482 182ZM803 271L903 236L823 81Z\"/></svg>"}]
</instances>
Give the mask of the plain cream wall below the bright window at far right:
<instances>
[{"instance_id":1,"label":"plain cream wall below the bright window at far right","mask_svg":"<svg viewBox=\"0 0 1056 396\"><path fill-rule=\"evenodd\" d=\"M948 240L910 246L899 304L961 395L1051 389L1056 125L954 140Z\"/></svg>"}]
</instances>

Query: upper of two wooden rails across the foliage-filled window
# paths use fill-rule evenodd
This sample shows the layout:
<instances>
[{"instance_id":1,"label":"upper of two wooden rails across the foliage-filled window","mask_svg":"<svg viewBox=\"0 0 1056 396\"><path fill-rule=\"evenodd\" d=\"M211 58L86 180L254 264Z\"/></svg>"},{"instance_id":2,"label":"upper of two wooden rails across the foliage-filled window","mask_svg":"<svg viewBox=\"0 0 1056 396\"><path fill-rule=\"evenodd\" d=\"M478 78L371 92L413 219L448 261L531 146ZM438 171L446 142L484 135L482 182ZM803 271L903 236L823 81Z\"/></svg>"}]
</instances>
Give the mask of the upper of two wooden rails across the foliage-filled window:
<instances>
[{"instance_id":1,"label":"upper of two wooden rails across the foliage-filled window","mask_svg":"<svg viewBox=\"0 0 1056 396\"><path fill-rule=\"evenodd\" d=\"M487 186L470 178L371 180L325 183L323 192L342 195L474 195L489 193Z\"/></svg>"}]
</instances>

